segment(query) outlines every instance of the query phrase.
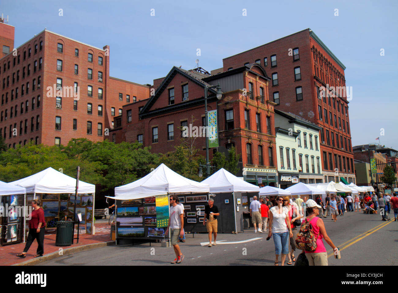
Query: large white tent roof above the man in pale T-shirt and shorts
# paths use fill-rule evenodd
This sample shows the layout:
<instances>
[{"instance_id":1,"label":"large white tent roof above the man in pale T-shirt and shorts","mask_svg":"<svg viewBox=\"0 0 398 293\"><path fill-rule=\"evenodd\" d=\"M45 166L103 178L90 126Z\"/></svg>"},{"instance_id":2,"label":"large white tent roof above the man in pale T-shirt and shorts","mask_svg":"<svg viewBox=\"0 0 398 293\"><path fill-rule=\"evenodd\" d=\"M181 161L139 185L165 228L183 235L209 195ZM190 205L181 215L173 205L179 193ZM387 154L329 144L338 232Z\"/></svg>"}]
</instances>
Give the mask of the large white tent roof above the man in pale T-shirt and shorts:
<instances>
[{"instance_id":1,"label":"large white tent roof above the man in pale T-shirt and shorts","mask_svg":"<svg viewBox=\"0 0 398 293\"><path fill-rule=\"evenodd\" d=\"M148 175L126 185L115 187L112 199L142 199L167 193L208 193L208 184L187 179L172 171L163 163Z\"/></svg>"}]
</instances>

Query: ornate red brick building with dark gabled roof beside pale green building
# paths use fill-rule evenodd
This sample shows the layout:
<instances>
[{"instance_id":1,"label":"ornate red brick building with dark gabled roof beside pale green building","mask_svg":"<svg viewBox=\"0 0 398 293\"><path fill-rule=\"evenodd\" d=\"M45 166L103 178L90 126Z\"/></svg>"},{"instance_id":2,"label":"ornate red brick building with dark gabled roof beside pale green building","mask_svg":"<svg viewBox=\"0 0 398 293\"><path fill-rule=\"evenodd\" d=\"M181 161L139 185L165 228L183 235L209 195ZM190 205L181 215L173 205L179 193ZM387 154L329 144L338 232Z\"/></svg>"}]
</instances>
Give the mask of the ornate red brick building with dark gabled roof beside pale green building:
<instances>
[{"instance_id":1,"label":"ornate red brick building with dark gabled roof beside pale green building","mask_svg":"<svg viewBox=\"0 0 398 293\"><path fill-rule=\"evenodd\" d=\"M241 66L210 75L205 71L173 67L168 75L154 81L158 85L148 100L123 106L110 132L115 142L139 140L155 153L173 151L181 144L181 129L187 126L195 136L194 146L205 153L204 88L220 84L223 96L208 91L208 111L218 112L219 146L235 146L242 154L246 181L274 184L276 177L274 103L269 100L269 77L259 64ZM246 91L246 89L248 89ZM139 115L137 115L139 113ZM111 138L109 138L111 139ZM210 151L212 154L212 151Z\"/></svg>"}]
</instances>

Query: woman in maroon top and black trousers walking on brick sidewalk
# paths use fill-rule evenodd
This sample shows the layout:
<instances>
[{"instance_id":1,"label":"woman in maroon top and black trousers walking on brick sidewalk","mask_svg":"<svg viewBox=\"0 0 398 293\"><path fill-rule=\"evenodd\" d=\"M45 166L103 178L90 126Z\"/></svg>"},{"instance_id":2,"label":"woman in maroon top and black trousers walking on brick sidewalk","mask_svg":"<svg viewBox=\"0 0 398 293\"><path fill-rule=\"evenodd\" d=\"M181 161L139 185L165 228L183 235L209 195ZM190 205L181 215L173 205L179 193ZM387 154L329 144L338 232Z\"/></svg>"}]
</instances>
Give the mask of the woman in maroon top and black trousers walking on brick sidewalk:
<instances>
[{"instance_id":1,"label":"woman in maroon top and black trousers walking on brick sidewalk","mask_svg":"<svg viewBox=\"0 0 398 293\"><path fill-rule=\"evenodd\" d=\"M35 239L37 240L37 250L36 255L33 257L38 258L40 256L43 256L44 254L44 232L46 226L46 222L44 219L44 210L41 207L41 201L39 201L38 199L34 199L31 205L33 210L29 215L29 234L27 235L27 240L23 252L17 254L17 256L20 258L26 257L27 251L29 250Z\"/></svg>"}]
</instances>

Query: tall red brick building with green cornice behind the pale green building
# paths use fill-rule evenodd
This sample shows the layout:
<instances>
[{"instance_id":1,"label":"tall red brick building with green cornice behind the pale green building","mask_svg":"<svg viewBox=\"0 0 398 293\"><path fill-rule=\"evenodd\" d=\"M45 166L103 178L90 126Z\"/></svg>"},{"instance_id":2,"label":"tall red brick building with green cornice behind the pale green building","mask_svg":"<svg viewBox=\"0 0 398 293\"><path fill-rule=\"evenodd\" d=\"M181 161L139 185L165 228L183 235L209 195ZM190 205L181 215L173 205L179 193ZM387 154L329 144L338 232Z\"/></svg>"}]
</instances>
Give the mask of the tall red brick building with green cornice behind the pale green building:
<instances>
[{"instance_id":1,"label":"tall red brick building with green cornice behind the pale green building","mask_svg":"<svg viewBox=\"0 0 398 293\"><path fill-rule=\"evenodd\" d=\"M263 65L272 78L268 91L276 109L294 113L321 128L322 173L328 177L337 174L348 183L354 181L347 101L352 92L335 90L345 87L343 63L311 29L225 58L223 70L250 63Z\"/></svg>"}]
</instances>

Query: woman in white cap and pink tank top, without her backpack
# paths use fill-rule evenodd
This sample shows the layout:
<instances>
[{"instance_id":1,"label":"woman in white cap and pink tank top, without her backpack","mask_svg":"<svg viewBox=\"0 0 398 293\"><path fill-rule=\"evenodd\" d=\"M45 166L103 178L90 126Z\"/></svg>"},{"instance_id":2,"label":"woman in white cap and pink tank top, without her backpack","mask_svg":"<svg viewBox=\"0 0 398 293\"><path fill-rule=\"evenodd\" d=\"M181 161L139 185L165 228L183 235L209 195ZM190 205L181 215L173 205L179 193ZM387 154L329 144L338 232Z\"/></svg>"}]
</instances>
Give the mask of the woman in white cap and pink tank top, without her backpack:
<instances>
[{"instance_id":1,"label":"woman in white cap and pink tank top, without her backpack","mask_svg":"<svg viewBox=\"0 0 398 293\"><path fill-rule=\"evenodd\" d=\"M309 265L328 265L328 253L322 241L322 238L333 248L336 253L338 248L333 244L332 240L326 233L325 224L321 218L318 217L319 208L321 206L317 205L312 199L307 201L307 212L308 216L306 220L312 225L312 230L314 231L314 238L316 238L316 250L305 251L305 256L308 259Z\"/></svg>"}]
</instances>

